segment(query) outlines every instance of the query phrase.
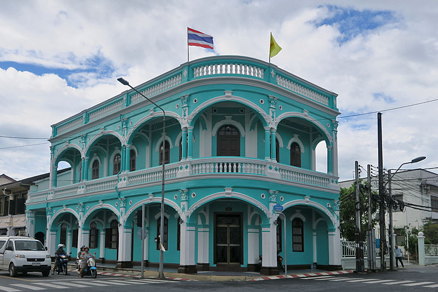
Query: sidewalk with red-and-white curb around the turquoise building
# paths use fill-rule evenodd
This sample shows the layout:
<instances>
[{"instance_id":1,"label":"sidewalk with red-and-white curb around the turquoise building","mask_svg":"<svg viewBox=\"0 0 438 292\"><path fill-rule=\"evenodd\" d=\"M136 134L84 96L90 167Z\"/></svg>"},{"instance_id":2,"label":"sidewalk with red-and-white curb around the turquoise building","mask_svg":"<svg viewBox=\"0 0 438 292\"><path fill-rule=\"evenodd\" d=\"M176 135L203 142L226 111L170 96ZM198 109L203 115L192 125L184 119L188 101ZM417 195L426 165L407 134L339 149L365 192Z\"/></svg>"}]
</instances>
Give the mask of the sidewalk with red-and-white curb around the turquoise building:
<instances>
[{"instance_id":1,"label":"sidewalk with red-and-white curb around the turquoise building","mask_svg":"<svg viewBox=\"0 0 438 292\"><path fill-rule=\"evenodd\" d=\"M69 264L70 269L75 269L76 266ZM132 267L119 269L112 264L96 264L98 272L104 272L105 275L114 276L131 276L138 277L141 275L141 267ZM69 270L70 270L69 269ZM107 274L108 273L108 274ZM308 270L292 270L288 271L288 278L296 277L311 277L317 275L330 275L330 274L347 274L352 273L352 271L334 271L327 272L323 270L308 269ZM144 268L145 277L157 277L158 268L145 267ZM192 280L192 281L260 281L260 280L270 280L270 279L282 279L286 276L280 273L280 275L275 276L264 276L256 272L216 272L216 271L202 271L197 274L178 274L177 269L164 269L164 276L172 280Z\"/></svg>"}]
</instances>

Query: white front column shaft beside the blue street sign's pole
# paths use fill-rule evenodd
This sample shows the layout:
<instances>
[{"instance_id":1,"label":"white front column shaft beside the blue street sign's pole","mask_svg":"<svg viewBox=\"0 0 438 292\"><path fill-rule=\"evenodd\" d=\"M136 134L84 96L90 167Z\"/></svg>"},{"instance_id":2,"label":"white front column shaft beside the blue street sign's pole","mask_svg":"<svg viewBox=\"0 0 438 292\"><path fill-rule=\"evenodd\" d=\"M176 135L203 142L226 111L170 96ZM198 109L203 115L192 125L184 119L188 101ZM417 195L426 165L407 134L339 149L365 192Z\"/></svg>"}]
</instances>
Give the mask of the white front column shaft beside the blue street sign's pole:
<instances>
[{"instance_id":1,"label":"white front column shaft beside the blue street sign's pole","mask_svg":"<svg viewBox=\"0 0 438 292\"><path fill-rule=\"evenodd\" d=\"M262 226L262 266L277 267L277 228L275 223Z\"/></svg>"}]
</instances>

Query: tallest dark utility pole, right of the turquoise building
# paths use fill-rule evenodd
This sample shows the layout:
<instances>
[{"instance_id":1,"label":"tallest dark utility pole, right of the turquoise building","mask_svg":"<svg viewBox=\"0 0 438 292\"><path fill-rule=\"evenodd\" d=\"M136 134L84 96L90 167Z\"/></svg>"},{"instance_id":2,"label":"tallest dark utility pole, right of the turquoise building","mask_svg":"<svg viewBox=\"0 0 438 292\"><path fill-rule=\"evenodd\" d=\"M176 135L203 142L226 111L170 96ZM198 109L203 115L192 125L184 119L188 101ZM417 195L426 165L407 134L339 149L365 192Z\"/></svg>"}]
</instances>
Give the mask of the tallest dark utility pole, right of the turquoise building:
<instances>
[{"instance_id":1,"label":"tallest dark utility pole, right of the turquoise building","mask_svg":"<svg viewBox=\"0 0 438 292\"><path fill-rule=\"evenodd\" d=\"M380 271L386 271L385 250L385 190L383 187L382 113L377 113L377 147L379 153L379 224L380 224Z\"/></svg>"}]
</instances>

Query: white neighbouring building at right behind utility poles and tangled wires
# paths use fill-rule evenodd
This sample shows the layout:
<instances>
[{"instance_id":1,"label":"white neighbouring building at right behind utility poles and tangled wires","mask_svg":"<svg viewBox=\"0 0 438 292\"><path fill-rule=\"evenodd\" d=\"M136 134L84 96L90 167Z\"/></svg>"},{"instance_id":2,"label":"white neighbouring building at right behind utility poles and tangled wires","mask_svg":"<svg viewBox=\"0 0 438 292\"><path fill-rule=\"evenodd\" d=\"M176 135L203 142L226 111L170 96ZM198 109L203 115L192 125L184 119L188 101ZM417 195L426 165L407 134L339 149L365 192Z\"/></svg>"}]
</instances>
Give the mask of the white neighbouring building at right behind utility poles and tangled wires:
<instances>
[{"instance_id":1,"label":"white neighbouring building at right behind utility poles and tangled wires","mask_svg":"<svg viewBox=\"0 0 438 292\"><path fill-rule=\"evenodd\" d=\"M353 182L354 180L339 182L339 185L350 187ZM376 177L373 177L372 183L373 189L378 190ZM387 189L388 187L389 183L386 184ZM400 236L400 230L404 229L404 226L410 225L410 227L419 228L427 221L438 223L438 174L423 169L399 171L391 180L391 189L394 200L426 206L416 207L423 210L405 207L403 212L400 211L400 208L393 209L394 233L399 234L396 237L397 244L404 244L405 237ZM387 225L389 222L388 213L386 213L385 221Z\"/></svg>"}]
</instances>

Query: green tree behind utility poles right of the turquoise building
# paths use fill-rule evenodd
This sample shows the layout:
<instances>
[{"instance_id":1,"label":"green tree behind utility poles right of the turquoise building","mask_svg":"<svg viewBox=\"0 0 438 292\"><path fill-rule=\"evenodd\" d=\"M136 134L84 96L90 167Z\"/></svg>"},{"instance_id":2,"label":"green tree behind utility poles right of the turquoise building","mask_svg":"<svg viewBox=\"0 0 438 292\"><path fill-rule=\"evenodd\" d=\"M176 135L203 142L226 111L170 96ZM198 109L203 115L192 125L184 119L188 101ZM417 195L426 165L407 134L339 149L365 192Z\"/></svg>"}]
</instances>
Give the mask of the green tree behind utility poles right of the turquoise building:
<instances>
[{"instance_id":1,"label":"green tree behind utility poles right of the turquoise building","mask_svg":"<svg viewBox=\"0 0 438 292\"><path fill-rule=\"evenodd\" d=\"M361 186L359 189L360 198L360 209L361 209L361 234L362 238L365 240L366 231L368 230L368 194L366 191L366 185L362 180L359 181ZM372 191L372 194L377 193ZM354 241L356 240L356 196L354 194L354 183L349 188L341 188L341 193L339 195L339 200L341 205L339 208L339 221L341 228L341 237ZM374 213L375 206L372 206L372 213ZM372 220L373 226L377 223L376 219Z\"/></svg>"}]
</instances>

